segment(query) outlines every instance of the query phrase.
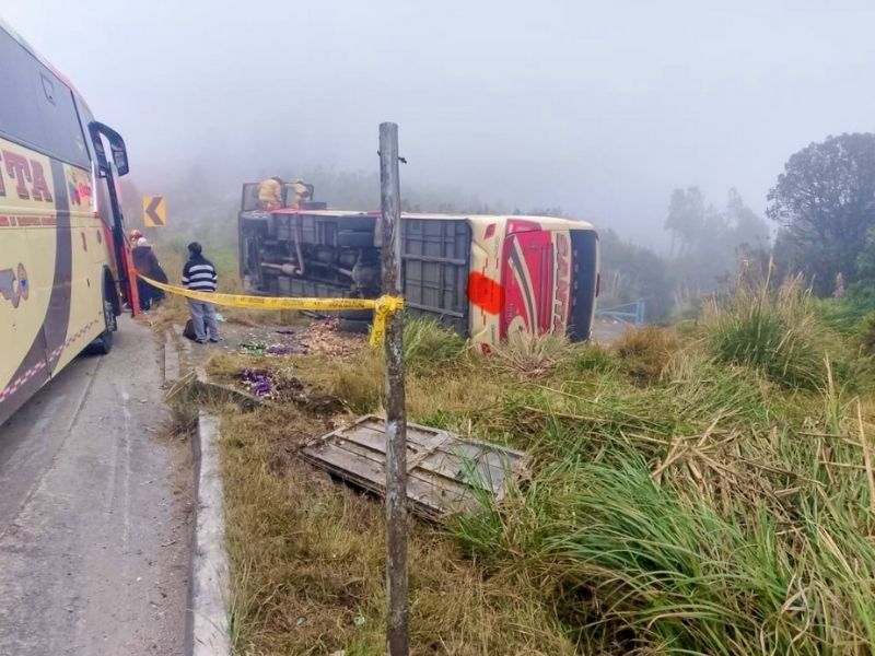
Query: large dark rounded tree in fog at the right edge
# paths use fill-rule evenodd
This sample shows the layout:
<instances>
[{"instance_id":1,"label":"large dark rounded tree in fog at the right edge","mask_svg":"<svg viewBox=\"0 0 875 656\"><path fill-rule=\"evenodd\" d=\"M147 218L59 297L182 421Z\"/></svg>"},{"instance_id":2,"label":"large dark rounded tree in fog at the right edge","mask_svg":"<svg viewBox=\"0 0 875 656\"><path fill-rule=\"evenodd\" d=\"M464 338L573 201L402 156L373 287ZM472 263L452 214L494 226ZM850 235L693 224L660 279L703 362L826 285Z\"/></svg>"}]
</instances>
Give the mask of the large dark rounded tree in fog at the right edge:
<instances>
[{"instance_id":1,"label":"large dark rounded tree in fog at the right edge","mask_svg":"<svg viewBox=\"0 0 875 656\"><path fill-rule=\"evenodd\" d=\"M867 276L860 256L875 223L875 134L828 137L791 155L768 200L784 269L804 272L820 295L838 273Z\"/></svg>"}]
</instances>

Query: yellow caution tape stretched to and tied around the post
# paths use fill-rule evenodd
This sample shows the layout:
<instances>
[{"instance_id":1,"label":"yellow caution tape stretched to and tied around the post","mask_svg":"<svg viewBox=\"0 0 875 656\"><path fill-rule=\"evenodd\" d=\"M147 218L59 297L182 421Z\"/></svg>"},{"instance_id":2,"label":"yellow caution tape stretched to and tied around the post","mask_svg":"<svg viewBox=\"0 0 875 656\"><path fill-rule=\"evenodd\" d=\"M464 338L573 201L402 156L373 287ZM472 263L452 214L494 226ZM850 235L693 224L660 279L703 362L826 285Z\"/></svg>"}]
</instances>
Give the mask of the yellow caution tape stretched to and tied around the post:
<instances>
[{"instance_id":1,"label":"yellow caution tape stretched to and tied around the post","mask_svg":"<svg viewBox=\"0 0 875 656\"><path fill-rule=\"evenodd\" d=\"M374 326L371 329L371 345L376 347L386 333L386 320L396 312L404 309L404 298L388 294L380 298L287 298L284 296L245 296L243 294L220 294L218 292L196 292L185 288L164 284L145 276L140 278L153 288L170 294L185 296L194 301L214 303L225 307L245 307L247 309L373 309Z\"/></svg>"}]
</instances>

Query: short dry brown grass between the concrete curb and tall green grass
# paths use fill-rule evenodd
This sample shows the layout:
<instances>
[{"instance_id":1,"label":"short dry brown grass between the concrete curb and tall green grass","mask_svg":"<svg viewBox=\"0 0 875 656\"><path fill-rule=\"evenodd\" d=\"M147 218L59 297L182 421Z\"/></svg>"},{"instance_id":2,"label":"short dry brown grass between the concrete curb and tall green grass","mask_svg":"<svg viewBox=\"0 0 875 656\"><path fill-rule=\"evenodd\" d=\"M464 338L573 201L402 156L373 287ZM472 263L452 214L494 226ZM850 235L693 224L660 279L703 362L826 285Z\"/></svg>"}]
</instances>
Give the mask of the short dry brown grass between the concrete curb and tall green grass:
<instances>
[{"instance_id":1,"label":"short dry brown grass between the concrete curb and tall green grass","mask_svg":"<svg viewBox=\"0 0 875 656\"><path fill-rule=\"evenodd\" d=\"M289 409L223 413L237 654L385 653L382 506L293 458L319 430ZM438 529L411 523L410 563L411 654L575 654L549 606Z\"/></svg>"}]
</instances>

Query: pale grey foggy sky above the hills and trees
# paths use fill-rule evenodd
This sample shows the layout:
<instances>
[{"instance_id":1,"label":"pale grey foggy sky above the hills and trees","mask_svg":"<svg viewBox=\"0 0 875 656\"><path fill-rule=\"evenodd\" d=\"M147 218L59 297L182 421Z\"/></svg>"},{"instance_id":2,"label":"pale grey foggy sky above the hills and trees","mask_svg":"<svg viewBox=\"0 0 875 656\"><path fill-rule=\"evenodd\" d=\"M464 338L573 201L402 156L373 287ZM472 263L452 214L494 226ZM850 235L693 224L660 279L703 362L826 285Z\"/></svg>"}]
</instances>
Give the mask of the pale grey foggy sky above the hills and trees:
<instances>
[{"instance_id":1,"label":"pale grey foggy sky above the hills and trees","mask_svg":"<svg viewBox=\"0 0 875 656\"><path fill-rule=\"evenodd\" d=\"M0 0L126 138L144 192L377 166L662 241L675 187L758 212L788 156L875 130L875 2ZM330 203L330 199L328 200Z\"/></svg>"}]
</instances>

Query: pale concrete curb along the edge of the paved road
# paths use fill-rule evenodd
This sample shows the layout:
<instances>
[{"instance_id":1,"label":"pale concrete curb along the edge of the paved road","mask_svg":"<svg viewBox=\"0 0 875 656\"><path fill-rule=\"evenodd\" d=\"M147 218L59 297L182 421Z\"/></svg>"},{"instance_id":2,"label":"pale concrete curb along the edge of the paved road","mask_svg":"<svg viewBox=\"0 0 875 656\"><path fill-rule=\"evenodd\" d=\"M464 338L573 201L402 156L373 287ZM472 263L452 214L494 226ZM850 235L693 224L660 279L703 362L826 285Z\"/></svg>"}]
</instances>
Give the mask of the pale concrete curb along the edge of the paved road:
<instances>
[{"instance_id":1,"label":"pale concrete curb along the edge of the paved road","mask_svg":"<svg viewBox=\"0 0 875 656\"><path fill-rule=\"evenodd\" d=\"M189 656L231 655L219 440L219 420L201 410L197 433L191 436L198 504L188 579L186 654Z\"/></svg>"}]
</instances>

